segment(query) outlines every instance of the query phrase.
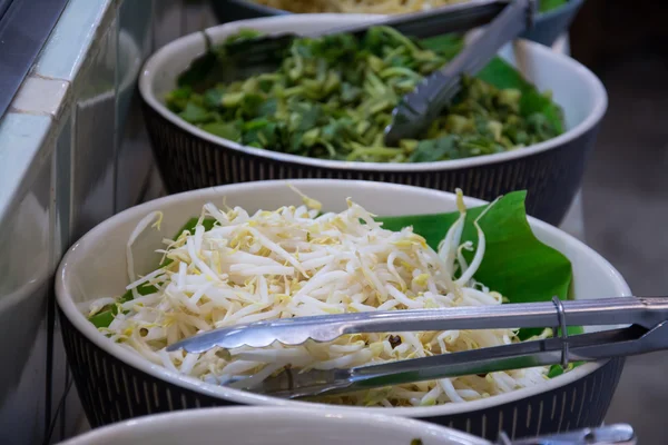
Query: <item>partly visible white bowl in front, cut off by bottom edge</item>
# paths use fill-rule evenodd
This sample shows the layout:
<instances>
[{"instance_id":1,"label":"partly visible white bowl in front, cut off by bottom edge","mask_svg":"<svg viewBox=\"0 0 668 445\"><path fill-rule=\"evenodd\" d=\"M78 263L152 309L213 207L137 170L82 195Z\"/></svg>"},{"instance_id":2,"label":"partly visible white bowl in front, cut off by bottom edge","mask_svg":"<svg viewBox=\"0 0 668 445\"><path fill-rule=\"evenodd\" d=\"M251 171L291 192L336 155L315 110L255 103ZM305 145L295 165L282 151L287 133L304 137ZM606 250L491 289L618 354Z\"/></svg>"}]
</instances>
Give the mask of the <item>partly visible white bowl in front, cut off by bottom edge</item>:
<instances>
[{"instance_id":1,"label":"partly visible white bowl in front, cut off by bottom edge","mask_svg":"<svg viewBox=\"0 0 668 445\"><path fill-rule=\"evenodd\" d=\"M305 408L189 409L94 429L62 445L491 445L432 424L379 414Z\"/></svg>"}]
</instances>

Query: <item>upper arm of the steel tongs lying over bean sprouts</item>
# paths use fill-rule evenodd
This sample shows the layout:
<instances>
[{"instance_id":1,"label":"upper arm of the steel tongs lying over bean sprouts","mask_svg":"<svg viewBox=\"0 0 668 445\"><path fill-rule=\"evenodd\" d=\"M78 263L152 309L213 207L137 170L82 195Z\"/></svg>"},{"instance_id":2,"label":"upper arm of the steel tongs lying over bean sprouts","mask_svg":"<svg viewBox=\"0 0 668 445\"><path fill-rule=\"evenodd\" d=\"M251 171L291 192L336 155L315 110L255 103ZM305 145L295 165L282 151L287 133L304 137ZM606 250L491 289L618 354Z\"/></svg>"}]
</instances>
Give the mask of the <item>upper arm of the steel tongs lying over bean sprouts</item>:
<instances>
[{"instance_id":1,"label":"upper arm of the steel tongs lying over bean sprouts","mask_svg":"<svg viewBox=\"0 0 668 445\"><path fill-rule=\"evenodd\" d=\"M266 347L274 342L301 345L333 342L342 335L444 329L501 329L547 326L640 325L651 328L668 319L668 297L603 298L323 315L259 322L209 330L167 347L203 353L214 347Z\"/></svg>"}]
</instances>

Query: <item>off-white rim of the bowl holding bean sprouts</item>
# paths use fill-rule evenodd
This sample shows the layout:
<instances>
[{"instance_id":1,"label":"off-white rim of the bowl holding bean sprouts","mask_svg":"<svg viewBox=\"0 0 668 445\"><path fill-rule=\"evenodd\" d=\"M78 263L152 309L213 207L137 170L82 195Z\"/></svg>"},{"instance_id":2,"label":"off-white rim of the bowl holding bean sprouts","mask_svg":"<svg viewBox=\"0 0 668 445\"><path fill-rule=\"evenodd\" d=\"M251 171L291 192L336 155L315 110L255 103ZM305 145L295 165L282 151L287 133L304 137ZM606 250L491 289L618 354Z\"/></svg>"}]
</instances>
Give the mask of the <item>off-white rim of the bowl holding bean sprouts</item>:
<instances>
[{"instance_id":1,"label":"off-white rim of the bowl holding bean sprouts","mask_svg":"<svg viewBox=\"0 0 668 445\"><path fill-rule=\"evenodd\" d=\"M115 358L124 362L126 365L129 365L136 369L139 369L143 373L146 373L155 378L158 378L165 383L176 385L177 387L181 387L185 389L189 389L205 396L209 396L217 399L225 399L228 402L243 404L243 405L278 405L278 406L303 406L308 407L310 409L331 409L332 405L325 405L320 403L311 403L311 402L302 402L302 400L287 400L281 399L276 397L264 396L259 394L248 393L240 389L234 389L224 386L212 385L202 380L198 380L194 377L179 375L174 373L163 366L150 363L149 360L140 357L138 354L130 352L126 348L120 347L119 345L111 343L107 337L105 337L100 332L98 332L95 326L86 319L84 314L78 309L77 304L71 298L71 294L68 290L66 285L67 275L69 274L69 263L75 259L75 255L77 255L77 249L81 244L85 243L95 243L95 238L105 234L107 230L115 227L117 224L122 224L128 220L132 220L138 218L140 215L145 216L149 211L168 207L171 202L177 202L187 199L202 199L205 197L212 196L222 196L226 192L230 191L244 191L253 188L274 188L277 186L284 186L285 184L293 184L297 187L303 187L303 189L307 189L311 185L317 185L322 182L328 182L332 186L336 187L336 184L342 185L351 185L356 189L377 189L382 187L386 190L387 194L399 192L402 190L413 190L419 191L422 195L431 196L433 199L440 199L443 196L454 197L453 194L433 190L422 187L413 187L413 186L404 186L397 184L379 184L373 181L363 181L363 180L345 180L345 179L291 179L286 180L265 180L265 181L255 181L255 182L240 182L240 184L230 184L226 186L218 187L209 187L203 188L193 191L186 191L177 195L166 196L136 207L131 207L126 209L111 218L102 221L89 233L87 233L82 238L80 238L77 243L75 243L70 249L66 253L62 258L60 265L58 266L58 270L56 273L56 299L62 314L68 318L68 320L73 325L73 327L84 335L89 342L95 344L97 347L110 354ZM465 202L468 206L475 206L485 204L485 201L475 199L475 198L466 198ZM608 275L610 279L617 281L617 287L620 289L620 294L628 296L631 295L631 291L625 281L623 277L615 269L615 267L608 263L603 257L601 257L593 249L570 236L569 234L547 224L541 220L538 220L533 217L529 217L529 222L532 229L538 228L542 233L548 233L552 236L559 237L564 244L570 244L574 246L577 249L581 249L583 251L589 253L593 258L598 260L598 263L608 270ZM394 408L385 408L385 407L358 407L358 406L337 406L340 409L351 411L351 412L364 412L364 413L379 413L379 414L387 414L391 413L396 416L403 417L433 417L433 416L446 416L446 415L456 415L462 413L470 413L478 409L484 409L490 407L495 407L499 405L517 402L522 398L531 397L538 394L547 393L549 390L566 386L574 380L584 377L586 375L599 369L609 360L601 360L598 363L588 363L581 365L569 373L566 373L561 376L552 378L544 384L536 385L532 387L517 389L510 393L500 394L493 397L488 397L479 400L466 402L465 404L444 404L438 406L426 406L426 407L394 407Z\"/></svg>"}]
</instances>

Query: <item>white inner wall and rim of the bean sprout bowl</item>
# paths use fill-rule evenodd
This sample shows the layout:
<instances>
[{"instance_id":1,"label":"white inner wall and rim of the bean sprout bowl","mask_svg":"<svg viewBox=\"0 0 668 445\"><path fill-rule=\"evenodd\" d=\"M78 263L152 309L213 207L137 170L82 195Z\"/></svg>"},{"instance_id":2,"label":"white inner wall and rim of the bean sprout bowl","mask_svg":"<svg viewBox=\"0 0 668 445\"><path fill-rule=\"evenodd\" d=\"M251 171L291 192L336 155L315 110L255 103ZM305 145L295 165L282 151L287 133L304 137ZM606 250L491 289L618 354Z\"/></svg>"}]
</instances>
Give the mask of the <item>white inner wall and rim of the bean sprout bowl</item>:
<instances>
[{"instance_id":1,"label":"white inner wall and rim of the bean sprout bowl","mask_svg":"<svg viewBox=\"0 0 668 445\"><path fill-rule=\"evenodd\" d=\"M307 179L291 182L310 197L318 199L324 208L328 210L343 210L346 207L345 199L347 197L352 197L370 211L383 216L455 210L454 195L425 188L346 180ZM66 255L58 271L58 303L77 329L99 347L149 374L167 378L178 385L189 385L195 390L206 390L214 396L232 397L240 403L283 403L278 399L250 393L205 385L191 378L173 374L156 365L150 365L143 358L140 359L138 355L109 342L97 332L77 307L95 298L118 296L124 293L124 288L128 284L126 244L130 234L144 217L151 211L159 210L164 214L160 231L145 230L132 246L135 270L138 274L146 274L155 268L159 260L159 255L155 254L155 250L161 247L161 239L174 236L189 217L199 215L202 206L208 201L218 206L222 206L225 201L229 206L240 206L248 211L301 204L299 198L289 190L285 181L263 181L173 195L122 211L87 234ZM477 199L468 199L466 202L469 206L481 204ZM597 253L552 226L533 218L530 219L530 224L539 239L557 248L572 261L574 278L572 291L577 299L630 295L630 290L621 276ZM597 364L581 366L564 376L546 383L543 386L546 388L550 385L559 386L559 382L566 383L574 379L578 375L584 375L598 366ZM540 393L542 390L546 389L540 386L466 404L396 409L401 411L402 415L418 413L418 411L428 413L431 409L461 413L475 407L519 398L522 394L529 395L533 394L531 392ZM303 404L298 402L291 403ZM367 411L367 408L363 409ZM383 411L383 408L376 409Z\"/></svg>"}]
</instances>

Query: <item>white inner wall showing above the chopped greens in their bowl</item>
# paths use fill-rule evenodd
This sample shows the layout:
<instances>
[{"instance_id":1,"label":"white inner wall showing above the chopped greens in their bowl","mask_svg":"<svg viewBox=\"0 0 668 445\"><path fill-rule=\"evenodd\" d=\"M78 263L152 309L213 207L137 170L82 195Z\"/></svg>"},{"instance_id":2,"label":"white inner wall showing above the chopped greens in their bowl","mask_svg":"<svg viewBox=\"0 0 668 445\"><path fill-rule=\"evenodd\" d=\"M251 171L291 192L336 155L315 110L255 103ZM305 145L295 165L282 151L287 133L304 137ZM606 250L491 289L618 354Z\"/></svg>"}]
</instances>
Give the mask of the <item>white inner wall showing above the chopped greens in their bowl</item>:
<instances>
[{"instance_id":1,"label":"white inner wall showing above the chopped greens in their bowl","mask_svg":"<svg viewBox=\"0 0 668 445\"><path fill-rule=\"evenodd\" d=\"M383 16L369 14L288 14L269 18L242 20L209 28L206 32L215 43L240 29L253 28L265 32L310 33L324 29L362 22L382 20ZM143 92L153 96L153 106L164 107L164 98L176 86L176 78L190 61L204 53L205 40L202 33L178 39L160 49L147 63L140 81ZM568 129L582 123L600 107L601 90L598 80L582 66L557 55L549 48L520 40L507 44L500 56L517 67L519 71L540 91L551 91L553 99L564 110Z\"/></svg>"}]
</instances>

